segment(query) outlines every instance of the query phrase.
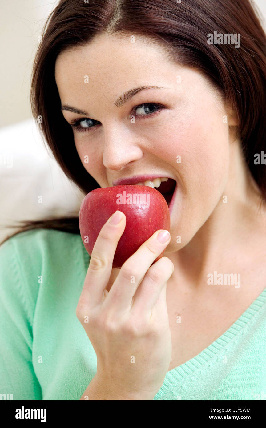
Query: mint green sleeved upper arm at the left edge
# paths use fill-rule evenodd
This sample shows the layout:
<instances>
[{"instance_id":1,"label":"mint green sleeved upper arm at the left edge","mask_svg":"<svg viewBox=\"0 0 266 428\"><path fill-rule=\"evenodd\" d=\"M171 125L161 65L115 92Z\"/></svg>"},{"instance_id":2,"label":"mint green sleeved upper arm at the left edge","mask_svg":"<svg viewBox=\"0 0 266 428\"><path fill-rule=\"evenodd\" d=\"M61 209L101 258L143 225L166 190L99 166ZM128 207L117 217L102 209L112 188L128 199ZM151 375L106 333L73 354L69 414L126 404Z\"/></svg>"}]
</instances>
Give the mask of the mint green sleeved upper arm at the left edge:
<instances>
[{"instance_id":1,"label":"mint green sleeved upper arm at the left edge","mask_svg":"<svg viewBox=\"0 0 266 428\"><path fill-rule=\"evenodd\" d=\"M27 297L11 239L0 245L0 394L13 400L42 399L32 363L33 311Z\"/></svg>"}]
</instances>

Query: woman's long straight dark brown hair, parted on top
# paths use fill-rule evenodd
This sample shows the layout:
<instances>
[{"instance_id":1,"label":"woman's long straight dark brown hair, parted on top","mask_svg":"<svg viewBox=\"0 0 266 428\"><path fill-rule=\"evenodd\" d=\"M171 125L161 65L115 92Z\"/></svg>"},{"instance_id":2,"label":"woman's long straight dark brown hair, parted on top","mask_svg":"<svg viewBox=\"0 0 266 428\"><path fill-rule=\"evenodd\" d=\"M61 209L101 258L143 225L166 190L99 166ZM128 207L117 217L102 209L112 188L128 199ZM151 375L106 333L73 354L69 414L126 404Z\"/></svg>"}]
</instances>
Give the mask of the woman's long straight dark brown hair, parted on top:
<instances>
[{"instance_id":1,"label":"woman's long straight dark brown hair, parted on top","mask_svg":"<svg viewBox=\"0 0 266 428\"><path fill-rule=\"evenodd\" d=\"M209 45L207 35L215 32L240 34L241 46ZM47 19L35 56L31 107L59 166L85 194L99 185L84 168L74 145L72 128L61 113L54 67L60 52L84 45L101 33L149 37L165 48L169 58L202 71L222 91L238 115L238 134L245 159L265 201L266 166L255 164L254 155L266 152L266 36L254 3L251 0L59 1ZM53 228L80 233L78 217L22 223L19 232Z\"/></svg>"}]
</instances>

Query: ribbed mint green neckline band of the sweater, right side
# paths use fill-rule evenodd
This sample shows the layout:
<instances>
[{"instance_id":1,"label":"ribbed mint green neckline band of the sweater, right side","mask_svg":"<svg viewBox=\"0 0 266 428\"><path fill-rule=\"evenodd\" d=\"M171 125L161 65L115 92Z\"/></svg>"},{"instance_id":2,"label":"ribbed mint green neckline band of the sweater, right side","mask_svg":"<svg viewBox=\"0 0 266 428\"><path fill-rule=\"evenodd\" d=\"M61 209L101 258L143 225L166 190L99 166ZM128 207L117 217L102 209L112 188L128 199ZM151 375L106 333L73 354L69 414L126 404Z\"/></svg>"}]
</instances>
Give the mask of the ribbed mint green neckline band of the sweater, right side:
<instances>
[{"instance_id":1,"label":"ribbed mint green neckline band of the sweater, right side","mask_svg":"<svg viewBox=\"0 0 266 428\"><path fill-rule=\"evenodd\" d=\"M212 342L207 348L201 351L198 355L169 370L166 375L174 377L177 380L183 379L210 361L210 359L219 353L231 340L233 340L241 330L251 321L254 315L266 303L266 288L259 294L245 312L222 334L218 339Z\"/></svg>"}]
</instances>

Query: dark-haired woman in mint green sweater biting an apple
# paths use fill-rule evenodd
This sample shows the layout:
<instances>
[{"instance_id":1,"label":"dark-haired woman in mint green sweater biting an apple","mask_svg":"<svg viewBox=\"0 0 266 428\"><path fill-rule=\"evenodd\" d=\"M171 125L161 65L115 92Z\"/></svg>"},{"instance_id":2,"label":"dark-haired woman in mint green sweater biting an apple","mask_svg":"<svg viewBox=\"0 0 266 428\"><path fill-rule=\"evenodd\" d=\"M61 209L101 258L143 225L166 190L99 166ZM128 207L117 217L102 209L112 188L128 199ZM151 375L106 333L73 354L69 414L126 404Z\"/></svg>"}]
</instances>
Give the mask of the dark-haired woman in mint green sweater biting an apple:
<instances>
[{"instance_id":1,"label":"dark-haired woman in mint green sweater biting an apple","mask_svg":"<svg viewBox=\"0 0 266 428\"><path fill-rule=\"evenodd\" d=\"M1 245L13 399L266 394L264 45L248 0L59 2L33 69L41 131L85 194L173 179L171 237L155 232L120 270L120 211L90 259L77 218Z\"/></svg>"}]
</instances>

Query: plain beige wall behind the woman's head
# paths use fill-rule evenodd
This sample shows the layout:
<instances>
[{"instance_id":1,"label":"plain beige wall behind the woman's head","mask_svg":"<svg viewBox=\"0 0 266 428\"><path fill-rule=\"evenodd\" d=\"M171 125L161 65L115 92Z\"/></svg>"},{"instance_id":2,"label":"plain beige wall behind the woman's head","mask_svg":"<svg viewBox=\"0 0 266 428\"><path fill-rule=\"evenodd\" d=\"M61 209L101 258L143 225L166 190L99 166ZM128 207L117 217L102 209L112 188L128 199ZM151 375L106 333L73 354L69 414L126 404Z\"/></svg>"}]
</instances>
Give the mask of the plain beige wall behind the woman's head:
<instances>
[{"instance_id":1,"label":"plain beige wall behind the woman's head","mask_svg":"<svg viewBox=\"0 0 266 428\"><path fill-rule=\"evenodd\" d=\"M185 0L182 0L185 1ZM38 36L55 0L0 0L0 127L32 117L30 74ZM266 0L256 0L266 17Z\"/></svg>"}]
</instances>

